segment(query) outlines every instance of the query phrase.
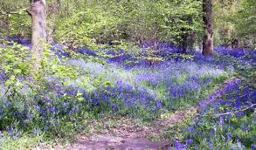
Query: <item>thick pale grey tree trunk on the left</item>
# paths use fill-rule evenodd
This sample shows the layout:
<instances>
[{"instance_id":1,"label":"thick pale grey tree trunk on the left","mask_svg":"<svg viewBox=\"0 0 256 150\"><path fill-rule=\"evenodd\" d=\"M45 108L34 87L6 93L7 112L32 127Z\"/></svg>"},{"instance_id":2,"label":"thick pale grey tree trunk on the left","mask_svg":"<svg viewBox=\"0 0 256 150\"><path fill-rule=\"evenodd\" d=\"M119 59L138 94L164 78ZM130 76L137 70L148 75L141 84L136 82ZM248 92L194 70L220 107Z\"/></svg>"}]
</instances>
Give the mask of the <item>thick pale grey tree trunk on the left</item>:
<instances>
[{"instance_id":1,"label":"thick pale grey tree trunk on the left","mask_svg":"<svg viewBox=\"0 0 256 150\"><path fill-rule=\"evenodd\" d=\"M46 43L46 3L45 0L31 0L32 37L31 54L34 58L33 69L38 69L43 57L43 44Z\"/></svg>"}]
</instances>

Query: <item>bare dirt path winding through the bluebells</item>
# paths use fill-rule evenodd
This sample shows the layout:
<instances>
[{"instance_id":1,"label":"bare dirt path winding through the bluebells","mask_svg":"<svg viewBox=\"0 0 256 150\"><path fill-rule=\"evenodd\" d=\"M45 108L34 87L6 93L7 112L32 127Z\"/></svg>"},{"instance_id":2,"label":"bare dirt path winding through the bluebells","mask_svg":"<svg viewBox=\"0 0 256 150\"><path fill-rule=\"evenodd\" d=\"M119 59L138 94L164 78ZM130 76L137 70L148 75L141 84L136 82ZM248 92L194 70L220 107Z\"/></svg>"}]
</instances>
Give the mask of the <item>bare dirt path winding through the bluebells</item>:
<instances>
[{"instance_id":1,"label":"bare dirt path winding through the bluebells","mask_svg":"<svg viewBox=\"0 0 256 150\"><path fill-rule=\"evenodd\" d=\"M148 126L135 125L128 119L119 119L117 125L109 126L107 120L103 120L106 130L80 136L77 142L69 147L57 147L56 149L85 149L85 150L142 150L142 149L167 149L170 145L169 140L154 142L147 140L149 136L160 136L164 129L170 125L183 122L197 113L197 110L217 99L224 92L224 89L233 83L238 83L239 79L231 79L225 82L215 92L201 101L197 106L191 106L183 111L171 113L164 119L154 121ZM93 124L93 123L92 123Z\"/></svg>"}]
</instances>

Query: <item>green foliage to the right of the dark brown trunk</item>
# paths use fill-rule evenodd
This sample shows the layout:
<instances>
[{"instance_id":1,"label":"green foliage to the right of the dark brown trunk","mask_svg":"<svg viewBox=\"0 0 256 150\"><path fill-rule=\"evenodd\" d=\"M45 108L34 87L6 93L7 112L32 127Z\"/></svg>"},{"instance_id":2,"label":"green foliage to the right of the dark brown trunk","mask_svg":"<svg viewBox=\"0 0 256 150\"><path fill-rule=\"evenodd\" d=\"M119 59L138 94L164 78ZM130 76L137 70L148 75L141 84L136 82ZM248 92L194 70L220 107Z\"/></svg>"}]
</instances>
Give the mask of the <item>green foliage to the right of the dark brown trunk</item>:
<instances>
[{"instance_id":1,"label":"green foliage to the right of the dark brown trunk","mask_svg":"<svg viewBox=\"0 0 256 150\"><path fill-rule=\"evenodd\" d=\"M238 39L239 46L255 48L255 7L253 0L214 1L215 44L231 45Z\"/></svg>"}]
</instances>

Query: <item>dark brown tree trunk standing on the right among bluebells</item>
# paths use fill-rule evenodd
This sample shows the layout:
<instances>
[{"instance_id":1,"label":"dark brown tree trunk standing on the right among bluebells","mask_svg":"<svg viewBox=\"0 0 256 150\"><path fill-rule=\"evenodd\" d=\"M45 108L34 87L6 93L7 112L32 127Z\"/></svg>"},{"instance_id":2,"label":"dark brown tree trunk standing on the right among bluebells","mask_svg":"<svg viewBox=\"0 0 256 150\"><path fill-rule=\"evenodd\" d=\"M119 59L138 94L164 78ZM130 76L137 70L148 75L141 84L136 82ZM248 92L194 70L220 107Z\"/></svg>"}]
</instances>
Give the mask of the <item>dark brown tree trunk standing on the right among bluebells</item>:
<instances>
[{"instance_id":1,"label":"dark brown tree trunk standing on the right among bluebells","mask_svg":"<svg viewBox=\"0 0 256 150\"><path fill-rule=\"evenodd\" d=\"M213 52L213 26L212 26L212 2L203 0L203 21L204 21L204 41L203 55L212 55Z\"/></svg>"}]
</instances>

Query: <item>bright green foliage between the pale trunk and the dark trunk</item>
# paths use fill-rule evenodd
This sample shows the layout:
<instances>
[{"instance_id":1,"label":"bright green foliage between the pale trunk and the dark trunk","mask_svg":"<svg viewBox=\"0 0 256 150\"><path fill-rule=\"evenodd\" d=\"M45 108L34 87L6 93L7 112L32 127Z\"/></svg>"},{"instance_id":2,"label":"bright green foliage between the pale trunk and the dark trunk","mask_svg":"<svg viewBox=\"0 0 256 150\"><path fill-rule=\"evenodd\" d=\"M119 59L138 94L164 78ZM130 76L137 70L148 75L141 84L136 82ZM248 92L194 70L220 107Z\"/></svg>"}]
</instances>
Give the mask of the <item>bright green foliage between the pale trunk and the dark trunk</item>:
<instances>
[{"instance_id":1,"label":"bright green foliage between the pale trunk and the dark trunk","mask_svg":"<svg viewBox=\"0 0 256 150\"><path fill-rule=\"evenodd\" d=\"M183 32L201 31L201 3L162 1L87 2L57 19L54 37L73 45L143 41L178 42ZM183 31L182 31L183 29Z\"/></svg>"}]
</instances>

